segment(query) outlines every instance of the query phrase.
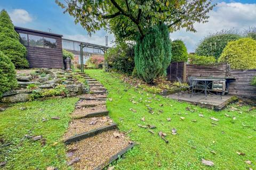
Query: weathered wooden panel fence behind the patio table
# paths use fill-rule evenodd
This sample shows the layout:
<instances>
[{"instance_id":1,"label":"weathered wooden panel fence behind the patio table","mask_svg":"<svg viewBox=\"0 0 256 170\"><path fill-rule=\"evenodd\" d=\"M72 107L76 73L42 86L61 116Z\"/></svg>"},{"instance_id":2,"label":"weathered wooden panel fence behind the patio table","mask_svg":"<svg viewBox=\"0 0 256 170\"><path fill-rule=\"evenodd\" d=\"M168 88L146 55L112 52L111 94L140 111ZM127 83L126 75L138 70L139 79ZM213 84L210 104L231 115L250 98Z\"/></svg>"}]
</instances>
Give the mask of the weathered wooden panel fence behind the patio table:
<instances>
[{"instance_id":1,"label":"weathered wooden panel fence behind the patio table","mask_svg":"<svg viewBox=\"0 0 256 170\"><path fill-rule=\"evenodd\" d=\"M230 70L227 63L199 65L184 62L171 63L167 68L167 79L170 81L177 81L177 77L188 81L190 76L234 77L236 80L229 83L229 94L256 99L256 87L251 85L256 70Z\"/></svg>"}]
</instances>

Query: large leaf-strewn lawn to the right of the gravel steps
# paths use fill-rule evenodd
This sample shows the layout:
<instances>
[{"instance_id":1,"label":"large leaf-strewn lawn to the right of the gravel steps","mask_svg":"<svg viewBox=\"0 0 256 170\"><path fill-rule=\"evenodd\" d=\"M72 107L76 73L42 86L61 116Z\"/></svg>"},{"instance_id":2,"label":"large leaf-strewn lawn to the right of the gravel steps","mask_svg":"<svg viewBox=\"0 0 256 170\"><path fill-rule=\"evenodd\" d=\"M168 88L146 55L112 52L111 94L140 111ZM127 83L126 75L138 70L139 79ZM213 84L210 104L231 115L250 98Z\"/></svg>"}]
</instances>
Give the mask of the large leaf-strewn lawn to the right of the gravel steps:
<instances>
[{"instance_id":1,"label":"large leaf-strewn lawn to the right of the gravel steps","mask_svg":"<svg viewBox=\"0 0 256 170\"><path fill-rule=\"evenodd\" d=\"M124 83L117 73L102 70L85 72L108 89L110 117L121 131L132 130L127 135L138 143L124 158L114 163L115 169L256 169L255 109L250 111L249 106L233 104L221 112L214 112L159 95L154 97ZM148 112L146 105L153 108L154 114ZM186 107L196 111L187 111ZM238 111L234 111L236 108ZM145 117L145 122L141 121L142 117ZM217 118L219 122L210 117ZM171 121L168 122L167 118ZM156 129L150 129L154 134L138 124L155 125ZM172 128L177 129L178 134L172 135ZM165 139L169 143L159 137L159 131L167 134ZM202 158L211 160L214 166L203 165ZM246 160L250 160L252 165L245 163Z\"/></svg>"}]
</instances>

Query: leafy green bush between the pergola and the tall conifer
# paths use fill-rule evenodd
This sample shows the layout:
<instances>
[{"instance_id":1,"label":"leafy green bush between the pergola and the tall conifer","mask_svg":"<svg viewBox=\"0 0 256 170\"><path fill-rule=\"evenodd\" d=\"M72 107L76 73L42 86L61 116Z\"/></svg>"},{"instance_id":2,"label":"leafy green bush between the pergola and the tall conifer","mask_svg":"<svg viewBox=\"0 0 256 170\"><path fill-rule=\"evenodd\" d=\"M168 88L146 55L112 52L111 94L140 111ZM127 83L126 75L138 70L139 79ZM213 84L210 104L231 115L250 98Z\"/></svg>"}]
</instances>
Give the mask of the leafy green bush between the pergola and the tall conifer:
<instances>
[{"instance_id":1,"label":"leafy green bush between the pergola and the tall conifer","mask_svg":"<svg viewBox=\"0 0 256 170\"><path fill-rule=\"evenodd\" d=\"M108 49L105 54L108 66L123 73L132 74L134 69L134 45L124 42Z\"/></svg>"}]
</instances>

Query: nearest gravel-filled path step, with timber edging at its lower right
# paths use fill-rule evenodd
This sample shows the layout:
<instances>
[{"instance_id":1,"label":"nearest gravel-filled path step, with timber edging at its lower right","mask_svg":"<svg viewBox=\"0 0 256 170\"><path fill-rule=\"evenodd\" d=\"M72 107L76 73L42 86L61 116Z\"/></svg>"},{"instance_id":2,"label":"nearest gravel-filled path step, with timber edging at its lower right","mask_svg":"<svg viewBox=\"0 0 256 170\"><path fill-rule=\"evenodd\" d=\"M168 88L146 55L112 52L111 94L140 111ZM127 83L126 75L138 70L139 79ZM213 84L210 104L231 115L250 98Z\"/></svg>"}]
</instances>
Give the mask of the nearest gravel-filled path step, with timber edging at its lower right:
<instances>
[{"instance_id":1,"label":"nearest gravel-filled path step, with timber edging at its lower right","mask_svg":"<svg viewBox=\"0 0 256 170\"><path fill-rule=\"evenodd\" d=\"M119 134L118 137L116 134ZM75 149L68 161L79 158L79 161L73 164L74 169L103 169L135 145L130 143L118 130L102 132L68 145L68 150Z\"/></svg>"}]
</instances>

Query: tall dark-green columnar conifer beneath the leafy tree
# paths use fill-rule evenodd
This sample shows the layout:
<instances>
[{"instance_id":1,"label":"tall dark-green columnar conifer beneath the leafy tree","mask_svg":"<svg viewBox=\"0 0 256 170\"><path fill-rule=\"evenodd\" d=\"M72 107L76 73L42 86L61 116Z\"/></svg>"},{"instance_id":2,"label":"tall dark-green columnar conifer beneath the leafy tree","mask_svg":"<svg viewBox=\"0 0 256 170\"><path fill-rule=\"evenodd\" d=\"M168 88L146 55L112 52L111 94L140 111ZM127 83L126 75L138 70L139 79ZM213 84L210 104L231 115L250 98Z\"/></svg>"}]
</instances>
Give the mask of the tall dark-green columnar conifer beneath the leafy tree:
<instances>
[{"instance_id":1,"label":"tall dark-green columnar conifer beneath the leafy tree","mask_svg":"<svg viewBox=\"0 0 256 170\"><path fill-rule=\"evenodd\" d=\"M171 41L166 25L155 25L142 40L138 37L134 61L138 77L147 83L166 74L171 62Z\"/></svg>"}]
</instances>

